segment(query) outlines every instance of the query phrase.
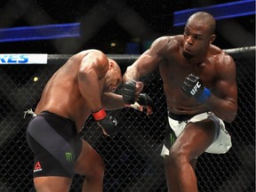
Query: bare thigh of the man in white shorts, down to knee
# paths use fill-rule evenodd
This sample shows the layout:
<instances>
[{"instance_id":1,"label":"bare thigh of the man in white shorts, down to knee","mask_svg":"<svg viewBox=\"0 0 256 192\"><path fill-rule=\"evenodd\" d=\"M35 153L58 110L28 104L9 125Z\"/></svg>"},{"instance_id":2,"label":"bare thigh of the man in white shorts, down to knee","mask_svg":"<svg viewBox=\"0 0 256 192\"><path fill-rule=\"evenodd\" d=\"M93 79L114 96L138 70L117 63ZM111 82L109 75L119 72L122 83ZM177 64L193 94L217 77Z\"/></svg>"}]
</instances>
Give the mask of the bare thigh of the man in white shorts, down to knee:
<instances>
[{"instance_id":1,"label":"bare thigh of the man in white shorts, down to knee","mask_svg":"<svg viewBox=\"0 0 256 192\"><path fill-rule=\"evenodd\" d=\"M190 159L200 156L205 149L212 144L215 135L214 123L211 119L204 119L200 122L188 123L184 131L180 133L172 150L182 148Z\"/></svg>"}]
</instances>

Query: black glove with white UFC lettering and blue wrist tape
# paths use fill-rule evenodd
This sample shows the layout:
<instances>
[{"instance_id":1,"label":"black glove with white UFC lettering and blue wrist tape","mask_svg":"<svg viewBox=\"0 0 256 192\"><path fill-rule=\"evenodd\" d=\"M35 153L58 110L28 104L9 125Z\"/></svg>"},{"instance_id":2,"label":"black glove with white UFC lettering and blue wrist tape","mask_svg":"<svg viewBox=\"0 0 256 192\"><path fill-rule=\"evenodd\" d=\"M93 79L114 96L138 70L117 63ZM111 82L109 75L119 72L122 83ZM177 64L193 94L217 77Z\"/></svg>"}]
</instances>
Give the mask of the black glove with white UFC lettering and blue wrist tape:
<instances>
[{"instance_id":1,"label":"black glove with white UFC lettering and blue wrist tape","mask_svg":"<svg viewBox=\"0 0 256 192\"><path fill-rule=\"evenodd\" d=\"M211 96L210 90L204 87L199 76L195 74L190 74L186 77L181 89L188 97L194 97L199 102L204 102Z\"/></svg>"}]
</instances>

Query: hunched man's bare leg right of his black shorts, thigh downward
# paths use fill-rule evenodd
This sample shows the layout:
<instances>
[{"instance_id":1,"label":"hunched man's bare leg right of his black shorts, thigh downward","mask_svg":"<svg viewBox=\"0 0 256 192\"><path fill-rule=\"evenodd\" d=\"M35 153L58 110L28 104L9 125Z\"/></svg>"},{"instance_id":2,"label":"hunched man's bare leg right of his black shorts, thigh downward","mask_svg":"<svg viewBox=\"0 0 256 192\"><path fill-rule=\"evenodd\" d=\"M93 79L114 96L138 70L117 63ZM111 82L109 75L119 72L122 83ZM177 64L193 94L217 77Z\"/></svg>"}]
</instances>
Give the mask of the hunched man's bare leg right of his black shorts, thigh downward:
<instances>
[{"instance_id":1,"label":"hunched man's bare leg right of his black shorts, thigh downward","mask_svg":"<svg viewBox=\"0 0 256 192\"><path fill-rule=\"evenodd\" d=\"M85 176L83 192L101 192L104 177L104 161L86 141L76 161L75 172Z\"/></svg>"}]
</instances>

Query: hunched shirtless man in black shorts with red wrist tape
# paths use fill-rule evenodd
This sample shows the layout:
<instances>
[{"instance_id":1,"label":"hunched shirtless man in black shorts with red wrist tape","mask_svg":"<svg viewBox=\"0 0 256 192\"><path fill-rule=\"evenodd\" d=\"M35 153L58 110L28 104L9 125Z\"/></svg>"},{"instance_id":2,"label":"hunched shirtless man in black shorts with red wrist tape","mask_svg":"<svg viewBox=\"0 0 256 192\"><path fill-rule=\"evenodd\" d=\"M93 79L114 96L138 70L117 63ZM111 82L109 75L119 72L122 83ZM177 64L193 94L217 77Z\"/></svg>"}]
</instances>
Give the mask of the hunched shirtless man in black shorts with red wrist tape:
<instances>
[{"instance_id":1,"label":"hunched shirtless man in black shorts with red wrist tape","mask_svg":"<svg viewBox=\"0 0 256 192\"><path fill-rule=\"evenodd\" d=\"M114 93L120 84L116 61L98 50L77 53L53 74L27 129L36 191L68 192L74 172L85 176L83 192L102 191L104 162L77 135L84 122L92 114L102 132L112 135L117 121L105 110L133 107L152 113L147 94L140 94L134 105L124 105L122 95Z\"/></svg>"}]
</instances>

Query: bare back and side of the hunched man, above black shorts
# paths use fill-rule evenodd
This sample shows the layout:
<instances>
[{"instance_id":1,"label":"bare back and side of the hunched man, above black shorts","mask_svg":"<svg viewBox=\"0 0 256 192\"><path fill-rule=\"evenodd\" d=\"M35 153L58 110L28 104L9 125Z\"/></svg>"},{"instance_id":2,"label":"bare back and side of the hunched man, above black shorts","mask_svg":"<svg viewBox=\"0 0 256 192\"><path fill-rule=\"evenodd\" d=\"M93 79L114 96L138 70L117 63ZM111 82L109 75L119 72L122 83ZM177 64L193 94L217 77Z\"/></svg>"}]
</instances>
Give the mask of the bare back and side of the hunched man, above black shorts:
<instances>
[{"instance_id":1,"label":"bare back and side of the hunched man, above black shorts","mask_svg":"<svg viewBox=\"0 0 256 192\"><path fill-rule=\"evenodd\" d=\"M83 96L79 92L77 72L81 61L90 50L78 52L58 69L44 88L42 98L36 107L36 114L44 110L67 117L76 123L77 132L91 115ZM101 80L100 89L103 89Z\"/></svg>"}]
</instances>

